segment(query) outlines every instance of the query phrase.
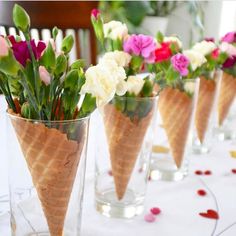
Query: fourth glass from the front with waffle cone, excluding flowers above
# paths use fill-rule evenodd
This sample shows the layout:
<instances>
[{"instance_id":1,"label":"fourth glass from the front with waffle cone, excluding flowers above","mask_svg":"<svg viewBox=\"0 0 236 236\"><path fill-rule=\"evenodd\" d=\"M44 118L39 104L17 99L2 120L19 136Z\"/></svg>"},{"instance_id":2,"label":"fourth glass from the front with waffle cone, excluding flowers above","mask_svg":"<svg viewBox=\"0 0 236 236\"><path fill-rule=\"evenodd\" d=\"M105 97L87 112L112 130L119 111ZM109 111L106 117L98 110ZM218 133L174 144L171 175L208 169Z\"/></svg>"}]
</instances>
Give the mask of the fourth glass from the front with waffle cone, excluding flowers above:
<instances>
[{"instance_id":1,"label":"fourth glass from the front with waffle cone, excluding flowers above","mask_svg":"<svg viewBox=\"0 0 236 236\"><path fill-rule=\"evenodd\" d=\"M208 76L200 77L192 140L194 154L208 153L214 143L221 74L220 70L216 70Z\"/></svg>"}]
</instances>

